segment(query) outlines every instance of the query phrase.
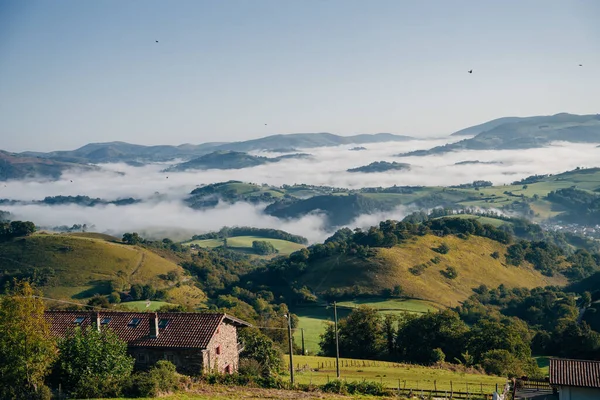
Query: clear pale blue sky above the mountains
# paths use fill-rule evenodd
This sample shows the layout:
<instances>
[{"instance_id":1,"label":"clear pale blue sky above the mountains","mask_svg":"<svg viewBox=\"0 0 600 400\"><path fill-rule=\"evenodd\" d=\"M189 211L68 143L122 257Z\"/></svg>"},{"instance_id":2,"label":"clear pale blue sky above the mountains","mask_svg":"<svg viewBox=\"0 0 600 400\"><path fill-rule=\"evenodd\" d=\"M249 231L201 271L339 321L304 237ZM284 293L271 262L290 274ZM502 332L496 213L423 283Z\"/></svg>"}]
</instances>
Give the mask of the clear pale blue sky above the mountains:
<instances>
[{"instance_id":1,"label":"clear pale blue sky above the mountains","mask_svg":"<svg viewBox=\"0 0 600 400\"><path fill-rule=\"evenodd\" d=\"M596 113L599 18L597 0L0 0L0 148Z\"/></svg>"}]
</instances>

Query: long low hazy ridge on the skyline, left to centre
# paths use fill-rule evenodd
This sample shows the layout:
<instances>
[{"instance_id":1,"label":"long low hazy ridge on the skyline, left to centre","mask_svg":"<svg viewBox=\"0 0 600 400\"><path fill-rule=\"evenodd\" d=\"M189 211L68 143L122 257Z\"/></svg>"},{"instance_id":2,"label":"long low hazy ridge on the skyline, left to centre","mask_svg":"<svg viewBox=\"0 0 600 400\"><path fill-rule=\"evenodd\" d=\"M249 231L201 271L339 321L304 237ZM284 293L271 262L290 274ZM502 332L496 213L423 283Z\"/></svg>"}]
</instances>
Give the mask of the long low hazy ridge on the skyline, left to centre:
<instances>
[{"instance_id":1,"label":"long low hazy ridge on the skyline, left to centre","mask_svg":"<svg viewBox=\"0 0 600 400\"><path fill-rule=\"evenodd\" d=\"M296 148L398 142L410 139L412 138L409 136L393 135L391 133L356 136L338 136L331 133L294 133L272 135L243 142L211 142L200 145L186 143L180 146L143 146L125 142L90 143L76 150L49 153L28 151L21 153L21 155L72 163L161 162L178 158L190 160L214 151L249 152L264 150L288 152Z\"/></svg>"}]
</instances>

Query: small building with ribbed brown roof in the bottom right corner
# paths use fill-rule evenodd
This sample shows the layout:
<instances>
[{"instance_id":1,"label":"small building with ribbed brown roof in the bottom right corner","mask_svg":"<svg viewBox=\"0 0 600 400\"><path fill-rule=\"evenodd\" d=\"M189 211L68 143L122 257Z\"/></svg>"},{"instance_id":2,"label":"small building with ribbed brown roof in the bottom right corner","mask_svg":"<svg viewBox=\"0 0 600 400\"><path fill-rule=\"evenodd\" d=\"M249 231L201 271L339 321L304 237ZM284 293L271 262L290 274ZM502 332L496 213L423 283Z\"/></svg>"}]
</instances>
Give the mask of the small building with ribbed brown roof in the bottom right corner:
<instances>
[{"instance_id":1,"label":"small building with ribbed brown roof in the bottom right corner","mask_svg":"<svg viewBox=\"0 0 600 400\"><path fill-rule=\"evenodd\" d=\"M552 358L550 384L559 400L600 399L600 361Z\"/></svg>"}]
</instances>

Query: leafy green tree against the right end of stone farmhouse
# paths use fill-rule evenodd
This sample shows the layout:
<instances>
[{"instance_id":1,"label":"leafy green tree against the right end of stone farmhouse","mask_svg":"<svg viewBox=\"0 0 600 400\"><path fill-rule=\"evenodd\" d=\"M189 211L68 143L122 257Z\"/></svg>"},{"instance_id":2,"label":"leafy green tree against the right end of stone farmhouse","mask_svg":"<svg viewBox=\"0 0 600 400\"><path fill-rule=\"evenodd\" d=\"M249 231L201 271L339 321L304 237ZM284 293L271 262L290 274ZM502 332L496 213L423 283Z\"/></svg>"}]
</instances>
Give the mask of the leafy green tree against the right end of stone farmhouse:
<instances>
[{"instance_id":1,"label":"leafy green tree against the right end of stone farmhouse","mask_svg":"<svg viewBox=\"0 0 600 400\"><path fill-rule=\"evenodd\" d=\"M242 329L239 334L240 340L244 344L240 358L257 361L265 376L281 370L283 365L281 353L269 337L257 329Z\"/></svg>"}]
</instances>

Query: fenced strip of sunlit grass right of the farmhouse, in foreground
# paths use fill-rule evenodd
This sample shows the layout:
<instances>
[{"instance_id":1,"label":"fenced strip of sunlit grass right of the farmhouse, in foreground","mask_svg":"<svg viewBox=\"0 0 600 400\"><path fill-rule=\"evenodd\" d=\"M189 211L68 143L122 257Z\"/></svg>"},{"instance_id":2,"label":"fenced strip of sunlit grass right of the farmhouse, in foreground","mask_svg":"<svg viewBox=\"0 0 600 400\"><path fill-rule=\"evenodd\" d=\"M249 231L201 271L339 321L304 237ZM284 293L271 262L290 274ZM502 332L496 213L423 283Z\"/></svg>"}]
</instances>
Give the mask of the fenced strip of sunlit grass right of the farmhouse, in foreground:
<instances>
[{"instance_id":1,"label":"fenced strip of sunlit grass right of the farmhouse, in foreground","mask_svg":"<svg viewBox=\"0 0 600 400\"><path fill-rule=\"evenodd\" d=\"M285 358L289 368L289 359ZM335 358L294 356L294 367L300 369L295 378L298 383L327 383L328 379L336 377ZM455 391L469 391L479 393L483 388L484 393L491 393L496 384L502 387L505 378L453 372L445 369L424 367L409 364L397 364L385 361L340 359L340 376L348 381L375 381L390 388L402 387L412 389L450 390L450 382Z\"/></svg>"}]
</instances>

